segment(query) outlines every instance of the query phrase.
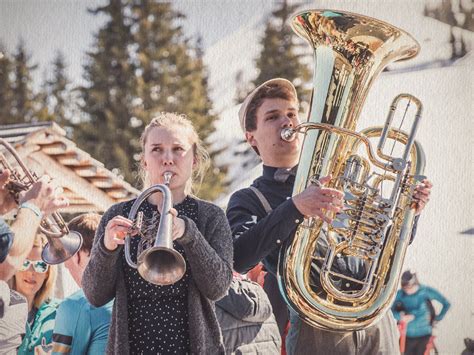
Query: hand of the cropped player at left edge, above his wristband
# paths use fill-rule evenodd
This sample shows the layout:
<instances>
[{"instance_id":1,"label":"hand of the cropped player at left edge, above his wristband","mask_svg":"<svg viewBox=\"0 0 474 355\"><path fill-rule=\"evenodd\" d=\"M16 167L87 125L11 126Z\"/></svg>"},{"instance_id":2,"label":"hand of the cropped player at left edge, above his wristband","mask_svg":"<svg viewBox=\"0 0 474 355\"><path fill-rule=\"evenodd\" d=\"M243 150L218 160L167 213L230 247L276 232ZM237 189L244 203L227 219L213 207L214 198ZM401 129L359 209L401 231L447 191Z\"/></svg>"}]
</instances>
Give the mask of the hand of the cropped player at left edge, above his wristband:
<instances>
[{"instance_id":1,"label":"hand of the cropped player at left edge, above his wristband","mask_svg":"<svg viewBox=\"0 0 474 355\"><path fill-rule=\"evenodd\" d=\"M54 188L49 180L50 178L47 176L41 177L29 190L22 194L19 204L21 205L23 202L33 203L45 216L56 212L60 208L67 207L69 201L62 196L58 196L58 190Z\"/></svg>"}]
</instances>

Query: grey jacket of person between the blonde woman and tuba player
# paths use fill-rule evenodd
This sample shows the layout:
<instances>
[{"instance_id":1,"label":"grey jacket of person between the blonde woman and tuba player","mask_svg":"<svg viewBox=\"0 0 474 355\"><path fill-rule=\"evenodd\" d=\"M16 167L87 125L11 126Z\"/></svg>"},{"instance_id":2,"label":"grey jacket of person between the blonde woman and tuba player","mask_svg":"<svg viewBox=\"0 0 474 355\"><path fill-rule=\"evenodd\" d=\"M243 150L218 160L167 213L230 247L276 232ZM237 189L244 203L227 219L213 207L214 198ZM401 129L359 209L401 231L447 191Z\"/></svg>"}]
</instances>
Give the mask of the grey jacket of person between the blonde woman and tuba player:
<instances>
[{"instance_id":1,"label":"grey jacket of person between the blonde woman and tuba player","mask_svg":"<svg viewBox=\"0 0 474 355\"><path fill-rule=\"evenodd\" d=\"M263 288L234 279L227 295L216 302L226 354L281 353L281 337Z\"/></svg>"}]
</instances>

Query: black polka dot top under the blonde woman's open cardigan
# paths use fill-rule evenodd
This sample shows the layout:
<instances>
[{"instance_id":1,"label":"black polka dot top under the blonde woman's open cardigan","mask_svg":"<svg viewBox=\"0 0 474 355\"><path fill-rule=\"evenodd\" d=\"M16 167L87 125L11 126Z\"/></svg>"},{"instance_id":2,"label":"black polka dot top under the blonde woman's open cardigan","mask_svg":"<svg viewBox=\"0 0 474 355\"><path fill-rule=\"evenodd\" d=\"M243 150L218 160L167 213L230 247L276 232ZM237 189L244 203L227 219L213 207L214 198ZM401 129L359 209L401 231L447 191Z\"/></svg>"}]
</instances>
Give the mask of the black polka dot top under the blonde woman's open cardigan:
<instances>
[{"instance_id":1,"label":"black polka dot top under the blonde woman's open cardigan","mask_svg":"<svg viewBox=\"0 0 474 355\"><path fill-rule=\"evenodd\" d=\"M197 203L191 197L174 206L179 216L197 221ZM148 201L142 203L145 227L151 225L151 240L142 237L131 239L131 257L136 262L137 251L147 249L154 242L159 220L156 206ZM147 223L148 222L148 223ZM144 230L142 228L142 230ZM131 354L189 354L188 282L190 266L184 249L176 242L173 247L186 260L186 273L173 285L158 286L145 281L136 269L131 268L125 256L122 267L125 271L125 287L128 297L128 332Z\"/></svg>"}]
</instances>

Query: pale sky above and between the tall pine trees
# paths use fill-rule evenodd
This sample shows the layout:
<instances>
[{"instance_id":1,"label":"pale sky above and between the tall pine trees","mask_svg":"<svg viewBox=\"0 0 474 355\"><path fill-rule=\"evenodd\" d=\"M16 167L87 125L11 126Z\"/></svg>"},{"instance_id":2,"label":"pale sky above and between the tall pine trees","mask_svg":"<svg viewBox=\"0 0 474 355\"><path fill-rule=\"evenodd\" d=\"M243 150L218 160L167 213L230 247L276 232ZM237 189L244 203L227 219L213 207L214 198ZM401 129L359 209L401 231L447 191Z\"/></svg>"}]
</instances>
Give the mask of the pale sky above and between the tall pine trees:
<instances>
[{"instance_id":1,"label":"pale sky above and between the tall pine trees","mask_svg":"<svg viewBox=\"0 0 474 355\"><path fill-rule=\"evenodd\" d=\"M0 0L0 42L13 52L20 38L40 64L35 72L39 80L55 53L61 50L69 64L69 74L79 81L84 54L93 41L93 34L103 23L104 16L87 13L104 1L93 0ZM106 1L105 1L106 3ZM267 12L271 1L233 0L173 2L175 8L187 15L183 28L188 36L200 34L208 47L235 31L258 12Z\"/></svg>"}]
</instances>

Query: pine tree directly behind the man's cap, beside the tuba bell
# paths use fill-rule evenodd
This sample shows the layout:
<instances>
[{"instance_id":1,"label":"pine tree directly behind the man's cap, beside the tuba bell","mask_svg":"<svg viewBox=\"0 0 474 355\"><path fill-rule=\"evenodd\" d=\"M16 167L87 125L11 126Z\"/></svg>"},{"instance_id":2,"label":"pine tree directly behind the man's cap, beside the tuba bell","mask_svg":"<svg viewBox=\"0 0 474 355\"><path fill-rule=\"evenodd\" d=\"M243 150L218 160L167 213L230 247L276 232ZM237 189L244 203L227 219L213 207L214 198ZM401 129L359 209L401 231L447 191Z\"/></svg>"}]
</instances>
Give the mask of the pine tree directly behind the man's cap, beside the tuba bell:
<instances>
[{"instance_id":1,"label":"pine tree directly behind the man's cap, beside the tuba bell","mask_svg":"<svg viewBox=\"0 0 474 355\"><path fill-rule=\"evenodd\" d=\"M288 26L288 20L298 5L288 5L283 1L281 6L272 12L268 20L265 34L262 38L262 52L256 60L259 75L253 81L254 87L276 77L290 80L296 87L298 98L301 101L309 99L303 84L311 78L308 66L302 64L298 54L297 36Z\"/></svg>"}]
</instances>

